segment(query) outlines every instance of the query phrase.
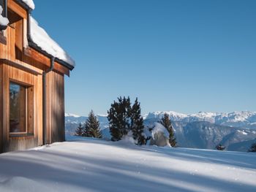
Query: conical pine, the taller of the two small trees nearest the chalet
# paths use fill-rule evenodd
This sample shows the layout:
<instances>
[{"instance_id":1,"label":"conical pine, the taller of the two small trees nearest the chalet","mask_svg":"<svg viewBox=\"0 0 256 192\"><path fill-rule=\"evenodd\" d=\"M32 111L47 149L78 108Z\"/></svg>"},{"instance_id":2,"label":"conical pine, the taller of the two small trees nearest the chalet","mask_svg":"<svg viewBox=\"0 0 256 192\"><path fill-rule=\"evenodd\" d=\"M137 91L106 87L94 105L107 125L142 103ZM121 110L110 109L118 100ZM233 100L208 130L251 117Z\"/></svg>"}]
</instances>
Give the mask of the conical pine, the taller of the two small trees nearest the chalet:
<instances>
[{"instance_id":1,"label":"conical pine, the taller of the two small trees nearest the chalet","mask_svg":"<svg viewBox=\"0 0 256 192\"><path fill-rule=\"evenodd\" d=\"M83 135L85 137L102 138L99 128L99 120L97 119L96 115L94 115L93 110L89 112L89 117L86 120Z\"/></svg>"}]
</instances>

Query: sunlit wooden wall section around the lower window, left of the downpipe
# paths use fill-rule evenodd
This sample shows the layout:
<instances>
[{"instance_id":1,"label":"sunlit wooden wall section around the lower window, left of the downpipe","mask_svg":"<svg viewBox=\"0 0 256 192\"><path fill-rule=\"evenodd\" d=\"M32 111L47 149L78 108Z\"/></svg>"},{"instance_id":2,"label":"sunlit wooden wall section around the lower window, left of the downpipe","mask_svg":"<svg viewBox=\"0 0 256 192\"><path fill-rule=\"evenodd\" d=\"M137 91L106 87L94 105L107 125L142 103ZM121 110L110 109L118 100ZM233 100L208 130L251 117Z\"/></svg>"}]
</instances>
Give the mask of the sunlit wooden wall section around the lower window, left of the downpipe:
<instances>
[{"instance_id":1,"label":"sunlit wooden wall section around the lower window, left of the downpipe","mask_svg":"<svg viewBox=\"0 0 256 192\"><path fill-rule=\"evenodd\" d=\"M10 64L0 64L0 81L1 81L1 147L2 152L11 150L22 150L29 147L42 145L42 76L31 74L17 69ZM31 123L31 134L10 134L10 104L9 104L9 85L10 80L15 82L26 83L33 87L33 111Z\"/></svg>"}]
</instances>

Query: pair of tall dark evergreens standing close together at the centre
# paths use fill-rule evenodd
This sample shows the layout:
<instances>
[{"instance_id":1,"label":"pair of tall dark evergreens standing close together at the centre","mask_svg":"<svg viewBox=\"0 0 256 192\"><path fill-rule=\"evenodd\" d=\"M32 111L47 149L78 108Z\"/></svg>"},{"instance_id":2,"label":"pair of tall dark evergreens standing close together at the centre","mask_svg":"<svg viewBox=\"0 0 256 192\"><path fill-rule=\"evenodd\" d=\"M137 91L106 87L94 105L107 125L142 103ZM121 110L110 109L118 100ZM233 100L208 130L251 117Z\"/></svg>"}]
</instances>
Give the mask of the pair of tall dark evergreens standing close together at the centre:
<instances>
[{"instance_id":1,"label":"pair of tall dark evergreens standing close together at the centre","mask_svg":"<svg viewBox=\"0 0 256 192\"><path fill-rule=\"evenodd\" d=\"M121 140L129 131L132 131L132 136L138 141L138 145L146 144L146 139L143 137L144 126L140 111L138 99L135 100L132 107L129 97L119 97L118 101L111 104L108 120L112 141Z\"/></svg>"}]
</instances>

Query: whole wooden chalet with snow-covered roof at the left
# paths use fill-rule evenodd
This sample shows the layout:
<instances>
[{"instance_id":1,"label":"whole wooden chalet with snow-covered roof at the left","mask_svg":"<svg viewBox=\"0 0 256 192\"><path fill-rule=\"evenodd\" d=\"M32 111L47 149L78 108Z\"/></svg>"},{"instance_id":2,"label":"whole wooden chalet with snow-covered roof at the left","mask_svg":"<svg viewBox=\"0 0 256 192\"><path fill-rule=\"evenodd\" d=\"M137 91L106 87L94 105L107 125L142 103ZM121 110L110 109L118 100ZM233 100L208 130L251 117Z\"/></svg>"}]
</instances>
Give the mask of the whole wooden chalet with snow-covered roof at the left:
<instances>
[{"instance_id":1,"label":"whole wooden chalet with snow-covered roof at the left","mask_svg":"<svg viewBox=\"0 0 256 192\"><path fill-rule=\"evenodd\" d=\"M75 62L31 18L32 0L0 5L9 21L0 22L0 153L63 142L64 75Z\"/></svg>"}]
</instances>

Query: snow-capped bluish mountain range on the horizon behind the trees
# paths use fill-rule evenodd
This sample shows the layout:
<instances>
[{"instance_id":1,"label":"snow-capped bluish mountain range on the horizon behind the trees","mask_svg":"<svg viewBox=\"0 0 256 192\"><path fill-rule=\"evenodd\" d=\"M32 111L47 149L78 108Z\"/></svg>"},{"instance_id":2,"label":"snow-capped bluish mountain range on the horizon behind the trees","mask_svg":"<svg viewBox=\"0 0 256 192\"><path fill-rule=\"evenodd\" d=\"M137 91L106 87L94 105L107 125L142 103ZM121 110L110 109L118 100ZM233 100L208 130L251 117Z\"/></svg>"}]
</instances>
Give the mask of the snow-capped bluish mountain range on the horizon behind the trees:
<instances>
[{"instance_id":1,"label":"snow-capped bluish mountain range on the horizon behind the trees","mask_svg":"<svg viewBox=\"0 0 256 192\"><path fill-rule=\"evenodd\" d=\"M256 142L256 112L149 112L143 115L145 126L152 126L167 113L173 122L180 147L214 149L221 143L227 150L246 151ZM97 115L104 139L110 139L107 115ZM66 134L74 134L86 116L65 114Z\"/></svg>"}]
</instances>

